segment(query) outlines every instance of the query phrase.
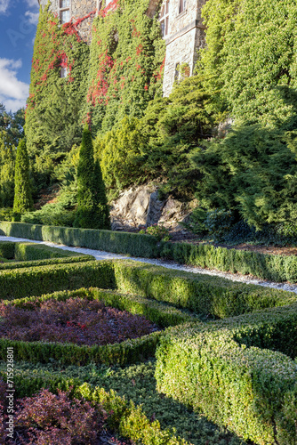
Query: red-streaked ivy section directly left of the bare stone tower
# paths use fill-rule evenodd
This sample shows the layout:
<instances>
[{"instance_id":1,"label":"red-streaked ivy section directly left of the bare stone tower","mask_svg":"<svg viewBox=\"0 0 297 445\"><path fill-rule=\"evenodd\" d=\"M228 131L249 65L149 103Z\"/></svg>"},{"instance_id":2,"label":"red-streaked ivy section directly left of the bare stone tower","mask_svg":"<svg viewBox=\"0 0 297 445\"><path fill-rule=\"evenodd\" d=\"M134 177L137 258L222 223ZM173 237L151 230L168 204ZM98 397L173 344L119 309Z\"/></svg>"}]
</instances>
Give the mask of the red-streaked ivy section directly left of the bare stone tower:
<instances>
[{"instance_id":1,"label":"red-streaked ivy section directly left of the bare stone tower","mask_svg":"<svg viewBox=\"0 0 297 445\"><path fill-rule=\"evenodd\" d=\"M148 0L114 0L93 20L85 118L106 133L162 95L165 43Z\"/></svg>"}]
</instances>

